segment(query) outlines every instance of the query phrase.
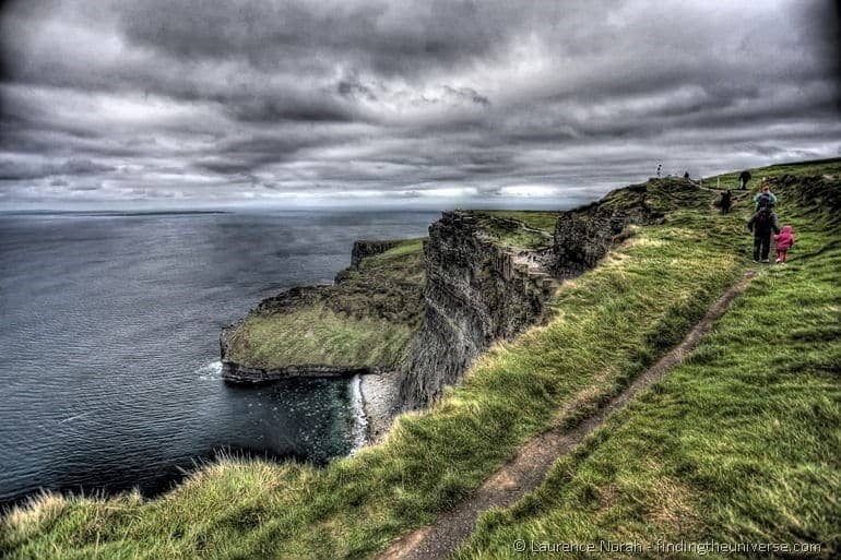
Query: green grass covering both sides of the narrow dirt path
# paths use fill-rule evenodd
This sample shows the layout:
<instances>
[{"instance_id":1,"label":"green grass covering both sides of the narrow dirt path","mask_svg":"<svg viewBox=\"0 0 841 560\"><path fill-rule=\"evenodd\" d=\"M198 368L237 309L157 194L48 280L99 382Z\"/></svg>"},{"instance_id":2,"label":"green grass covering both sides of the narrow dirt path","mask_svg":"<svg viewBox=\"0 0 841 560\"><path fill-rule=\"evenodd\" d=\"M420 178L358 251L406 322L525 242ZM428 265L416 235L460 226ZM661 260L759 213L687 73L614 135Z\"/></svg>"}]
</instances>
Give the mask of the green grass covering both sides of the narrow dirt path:
<instances>
[{"instance_id":1,"label":"green grass covering both sides of the narrow dirt path","mask_svg":"<svg viewBox=\"0 0 841 560\"><path fill-rule=\"evenodd\" d=\"M558 410L580 391L591 390L595 398L619 391L677 342L749 267L745 216L713 214L710 196L702 199L680 184L658 191L655 202L665 206L671 200L674 210L665 224L639 228L597 269L565 283L545 325L494 346L461 385L446 392L442 402L428 412L401 416L383 443L323 469L230 458L199 469L177 489L154 500L137 495L111 499L48 495L3 519L0 556L372 556L463 499L525 440L553 424L569 421L558 418ZM784 219L795 221L801 242L792 253L793 262L785 270L770 271L736 305L734 314L727 315L725 320L739 329L716 330L714 346L708 343L707 350L697 353L676 376L624 413L624 417L642 414L640 410L650 415L647 424L636 428L628 422L631 427L626 433L636 439L612 439L613 429L626 425L614 419L611 430L600 432L570 460L583 466L602 444L613 442L608 449L615 455L604 452L600 463L582 473L577 482L581 490L565 486L571 484L575 472L556 467L554 484L535 495L531 507L495 514L501 517L486 516L463 555L496 558L497 552L508 553L504 541L512 533L504 533L500 519L541 535L556 526L585 532L576 520L553 525L553 515L562 515L562 504L572 504L578 508L575 511L583 510L577 519L590 523L587 515L599 515L593 504L603 496L616 496L619 504L608 507L599 520L600 527L607 527L605 534L626 531L627 520L631 520L627 521L630 529L639 529L632 514L654 504L660 504L650 514L654 521L643 516L644 522L673 527L666 535L695 535L679 533L685 529L674 527L684 524L670 521L683 519L685 511L690 520L712 512L709 525L686 526L719 527L718 535L750 529L749 535L770 531L784 536L793 527L807 536L809 532L831 533L827 520L837 512L837 502L831 500L839 493L838 465L833 472L828 469L825 457L838 450L839 424L833 393L837 378L827 371L828 366L838 369L839 354L837 346L821 339L831 336L826 324L838 324L841 305L837 291L829 288L838 277L839 255L833 249L838 235L817 226L806 228L805 213L795 212L796 186L780 194L791 208ZM766 291L775 294L775 299L762 300ZM783 305L778 313L774 307ZM778 323L804 346L772 345L760 367L746 370L748 365L737 357L739 348L757 339L765 342L768 333L781 333L783 326L778 331ZM731 334L723 336L722 332ZM719 356L716 348L727 354ZM799 369L786 373L785 368ZM738 378L741 384L730 386L727 379L742 371L748 373ZM773 374L780 371L782 381L774 381ZM603 381L595 384L596 378ZM686 388L691 393L682 390L682 379L688 380ZM678 385L670 389L670 383ZM745 400L729 401L734 390ZM799 392L802 397L785 398ZM781 422L779 433L773 419ZM818 436L829 438L819 440ZM779 451L765 449L759 442L766 439L785 445ZM751 456L745 450L759 454ZM715 453L715 461L708 460L707 453ZM642 458L636 461L638 455ZM647 460L656 463L649 465ZM635 479L643 467L649 474ZM768 478L767 472L785 476ZM614 493L602 482L613 480L616 473L628 476L615 480L619 491ZM699 495L696 484L710 493ZM600 493L605 488L606 493ZM628 488L639 492L623 493ZM642 496L643 491L654 493ZM734 497L747 491L754 492L753 501L743 510L734 509ZM713 492L721 492L721 498ZM584 501L573 504L575 499ZM807 502L809 513L795 511ZM724 513L716 517L716 511ZM540 516L544 514L547 516ZM837 535L837 526L834 531Z\"/></svg>"}]
</instances>

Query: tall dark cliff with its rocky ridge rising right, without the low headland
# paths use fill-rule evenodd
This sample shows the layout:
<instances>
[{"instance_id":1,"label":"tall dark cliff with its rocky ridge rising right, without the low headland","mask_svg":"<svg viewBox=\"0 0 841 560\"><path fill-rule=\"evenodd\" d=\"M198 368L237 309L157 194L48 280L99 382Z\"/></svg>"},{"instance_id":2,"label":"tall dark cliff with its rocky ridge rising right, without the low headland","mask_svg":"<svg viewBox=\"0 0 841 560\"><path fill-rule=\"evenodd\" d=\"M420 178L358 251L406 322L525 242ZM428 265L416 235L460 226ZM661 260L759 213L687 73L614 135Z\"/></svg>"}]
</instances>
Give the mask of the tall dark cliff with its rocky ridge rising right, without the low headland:
<instances>
[{"instance_id":1,"label":"tall dark cliff with its rocky ridge rising right, without the low headland","mask_svg":"<svg viewBox=\"0 0 841 560\"><path fill-rule=\"evenodd\" d=\"M445 212L424 245L426 309L401 385L404 407L434 401L494 342L538 322L557 283L595 266L630 226L708 204L689 181L652 179L566 212Z\"/></svg>"}]
</instances>

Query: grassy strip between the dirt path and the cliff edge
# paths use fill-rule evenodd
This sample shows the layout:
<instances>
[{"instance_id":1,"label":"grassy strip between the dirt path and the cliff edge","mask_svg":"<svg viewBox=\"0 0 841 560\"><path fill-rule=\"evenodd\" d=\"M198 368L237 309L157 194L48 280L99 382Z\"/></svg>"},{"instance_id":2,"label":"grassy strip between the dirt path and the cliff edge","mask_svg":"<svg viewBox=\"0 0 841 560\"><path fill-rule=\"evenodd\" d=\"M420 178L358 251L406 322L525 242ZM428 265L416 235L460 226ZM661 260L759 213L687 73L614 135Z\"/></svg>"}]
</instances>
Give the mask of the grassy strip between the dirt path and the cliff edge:
<instances>
[{"instance_id":1,"label":"grassy strip between the dirt path and the cliff edge","mask_svg":"<svg viewBox=\"0 0 841 560\"><path fill-rule=\"evenodd\" d=\"M690 194L680 189L663 200ZM596 376L605 376L599 385L604 397L677 342L747 266L749 239L738 217L696 210L640 230L603 266L561 286L557 313L546 326L495 346L442 403L401 417L383 444L354 457L322 470L226 461L151 501L131 495L47 497L4 517L0 552L59 559L368 556L430 522L525 439L550 422L567 421L556 412ZM805 251L804 246L797 250ZM790 270L785 274L795 274L796 265ZM797 293L802 306L812 305L807 293ZM679 406L688 397L676 400ZM816 409L830 408L818 403ZM758 415L763 408L745 413L751 410ZM656 427L650 431L655 442L670 438ZM720 450L738 458L737 451ZM727 474L713 465L715 473ZM486 532L493 548L495 529ZM482 556L481 548L474 551Z\"/></svg>"}]
</instances>

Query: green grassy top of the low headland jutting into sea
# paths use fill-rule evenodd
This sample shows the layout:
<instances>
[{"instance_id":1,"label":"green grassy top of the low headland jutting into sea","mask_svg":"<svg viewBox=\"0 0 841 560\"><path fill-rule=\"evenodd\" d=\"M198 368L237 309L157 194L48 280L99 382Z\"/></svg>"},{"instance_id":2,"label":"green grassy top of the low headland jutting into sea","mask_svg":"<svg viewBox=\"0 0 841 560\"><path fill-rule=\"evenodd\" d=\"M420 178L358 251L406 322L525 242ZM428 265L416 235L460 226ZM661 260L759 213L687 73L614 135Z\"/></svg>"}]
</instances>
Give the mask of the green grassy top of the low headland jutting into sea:
<instances>
[{"instance_id":1,"label":"green grassy top of the low headland jutting into sea","mask_svg":"<svg viewBox=\"0 0 841 560\"><path fill-rule=\"evenodd\" d=\"M396 367L423 312L423 240L364 259L337 285L292 311L251 312L230 337L248 366Z\"/></svg>"}]
</instances>

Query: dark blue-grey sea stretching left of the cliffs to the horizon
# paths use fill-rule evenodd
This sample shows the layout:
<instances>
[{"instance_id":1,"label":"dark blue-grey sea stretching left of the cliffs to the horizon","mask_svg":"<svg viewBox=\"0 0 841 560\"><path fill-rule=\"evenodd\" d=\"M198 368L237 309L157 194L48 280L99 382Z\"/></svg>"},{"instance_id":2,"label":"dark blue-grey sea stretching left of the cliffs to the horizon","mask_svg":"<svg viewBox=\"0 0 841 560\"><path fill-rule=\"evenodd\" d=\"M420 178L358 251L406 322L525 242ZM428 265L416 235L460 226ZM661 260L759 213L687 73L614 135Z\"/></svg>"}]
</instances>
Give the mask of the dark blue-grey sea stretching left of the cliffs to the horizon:
<instances>
[{"instance_id":1,"label":"dark blue-grey sea stretching left of the cliffs to the horizon","mask_svg":"<svg viewBox=\"0 0 841 560\"><path fill-rule=\"evenodd\" d=\"M0 504L39 488L154 495L220 451L352 452L358 381L228 386L220 330L282 289L332 283L354 240L423 236L436 218L0 215Z\"/></svg>"}]
</instances>

